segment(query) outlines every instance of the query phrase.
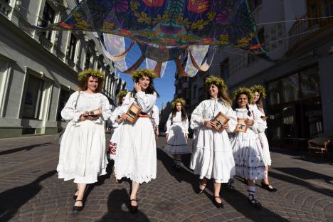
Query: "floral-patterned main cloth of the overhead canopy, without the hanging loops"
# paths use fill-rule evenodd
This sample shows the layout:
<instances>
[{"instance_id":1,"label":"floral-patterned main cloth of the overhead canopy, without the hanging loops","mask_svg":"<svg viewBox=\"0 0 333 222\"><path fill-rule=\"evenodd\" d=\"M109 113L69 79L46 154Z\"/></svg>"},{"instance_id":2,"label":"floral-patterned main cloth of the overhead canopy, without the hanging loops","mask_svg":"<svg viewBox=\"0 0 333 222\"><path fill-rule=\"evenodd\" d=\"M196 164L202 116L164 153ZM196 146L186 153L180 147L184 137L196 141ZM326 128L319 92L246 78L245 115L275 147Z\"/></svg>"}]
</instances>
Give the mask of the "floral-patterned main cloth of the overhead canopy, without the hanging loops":
<instances>
[{"instance_id":1,"label":"floral-patterned main cloth of the overhead canopy, without the hanging loops","mask_svg":"<svg viewBox=\"0 0 333 222\"><path fill-rule=\"evenodd\" d=\"M28 28L102 31L166 46L215 44L265 53L246 0L80 1L63 21Z\"/></svg>"}]
</instances>

